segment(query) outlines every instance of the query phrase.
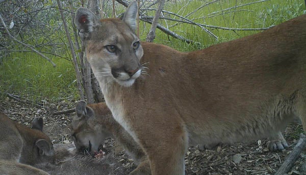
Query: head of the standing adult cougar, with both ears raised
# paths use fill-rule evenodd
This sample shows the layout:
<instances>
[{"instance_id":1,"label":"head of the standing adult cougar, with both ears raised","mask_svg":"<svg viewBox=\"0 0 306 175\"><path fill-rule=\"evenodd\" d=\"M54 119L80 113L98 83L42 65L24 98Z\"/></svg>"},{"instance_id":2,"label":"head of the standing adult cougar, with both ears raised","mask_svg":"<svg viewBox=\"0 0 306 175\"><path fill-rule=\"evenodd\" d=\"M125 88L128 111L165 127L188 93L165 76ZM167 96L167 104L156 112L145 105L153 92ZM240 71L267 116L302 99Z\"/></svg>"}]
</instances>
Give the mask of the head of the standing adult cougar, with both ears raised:
<instances>
[{"instance_id":1,"label":"head of the standing adult cougar, with both ears raised","mask_svg":"<svg viewBox=\"0 0 306 175\"><path fill-rule=\"evenodd\" d=\"M102 19L79 8L74 23L86 46L87 59L99 81L111 78L131 86L141 74L143 49L135 35L137 2L132 1L122 19Z\"/></svg>"}]
</instances>

